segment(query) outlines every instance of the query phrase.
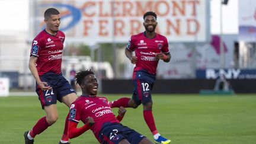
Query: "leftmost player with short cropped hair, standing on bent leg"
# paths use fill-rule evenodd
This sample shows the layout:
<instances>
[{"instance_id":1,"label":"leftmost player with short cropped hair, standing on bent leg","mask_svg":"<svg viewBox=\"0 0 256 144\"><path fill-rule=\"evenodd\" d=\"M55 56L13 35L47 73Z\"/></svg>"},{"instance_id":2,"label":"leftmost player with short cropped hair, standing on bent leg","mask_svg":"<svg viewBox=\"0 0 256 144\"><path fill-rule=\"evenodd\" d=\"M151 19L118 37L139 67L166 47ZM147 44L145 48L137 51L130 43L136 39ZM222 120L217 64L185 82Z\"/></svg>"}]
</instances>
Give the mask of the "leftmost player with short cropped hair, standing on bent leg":
<instances>
[{"instance_id":1,"label":"leftmost player with short cropped hair, standing on bent leg","mask_svg":"<svg viewBox=\"0 0 256 144\"><path fill-rule=\"evenodd\" d=\"M56 122L57 100L70 107L76 100L76 93L61 72L65 34L59 30L60 13L55 8L44 12L46 28L33 40L29 68L36 79L36 92L46 116L41 117L29 131L24 133L25 144L34 143L34 137ZM68 142L68 116L59 143Z\"/></svg>"}]
</instances>

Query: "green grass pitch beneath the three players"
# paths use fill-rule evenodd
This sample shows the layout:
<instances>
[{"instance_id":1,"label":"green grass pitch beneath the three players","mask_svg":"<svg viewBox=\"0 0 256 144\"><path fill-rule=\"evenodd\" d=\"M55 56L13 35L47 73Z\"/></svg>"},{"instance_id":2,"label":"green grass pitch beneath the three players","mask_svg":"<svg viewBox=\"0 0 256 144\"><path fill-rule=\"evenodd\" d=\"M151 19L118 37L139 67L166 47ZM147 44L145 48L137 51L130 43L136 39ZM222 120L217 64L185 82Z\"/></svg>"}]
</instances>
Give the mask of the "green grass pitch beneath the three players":
<instances>
[{"instance_id":1,"label":"green grass pitch beneath the three players","mask_svg":"<svg viewBox=\"0 0 256 144\"><path fill-rule=\"evenodd\" d=\"M109 100L119 96L105 95ZM128 96L129 95L122 95ZM58 143L68 108L57 104L59 119L36 137L38 144ZM116 113L117 108L114 108ZM172 143L256 143L256 95L153 95L153 114L162 136ZM0 143L24 143L23 133L44 116L37 97L0 97ZM152 139L142 106L128 108L122 123ZM81 124L79 125L81 126ZM72 143L98 143L91 131Z\"/></svg>"}]
</instances>

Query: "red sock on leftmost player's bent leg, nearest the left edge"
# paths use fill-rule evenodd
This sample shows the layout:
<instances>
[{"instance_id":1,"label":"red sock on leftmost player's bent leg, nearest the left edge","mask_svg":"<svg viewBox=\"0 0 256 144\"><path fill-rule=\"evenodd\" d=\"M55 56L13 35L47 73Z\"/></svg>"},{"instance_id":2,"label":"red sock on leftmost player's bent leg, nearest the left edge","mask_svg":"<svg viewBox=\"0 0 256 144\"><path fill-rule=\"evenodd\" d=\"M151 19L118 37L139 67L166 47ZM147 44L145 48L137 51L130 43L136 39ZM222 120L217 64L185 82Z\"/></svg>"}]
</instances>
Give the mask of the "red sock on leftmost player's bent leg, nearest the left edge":
<instances>
[{"instance_id":1,"label":"red sock on leftmost player's bent leg, nearest the left edge","mask_svg":"<svg viewBox=\"0 0 256 144\"><path fill-rule=\"evenodd\" d=\"M49 123L46 120L46 117L42 117L37 123L34 125L33 129L30 130L29 135L31 137L35 137L36 135L39 135L41 132L47 129L49 127Z\"/></svg>"}]
</instances>

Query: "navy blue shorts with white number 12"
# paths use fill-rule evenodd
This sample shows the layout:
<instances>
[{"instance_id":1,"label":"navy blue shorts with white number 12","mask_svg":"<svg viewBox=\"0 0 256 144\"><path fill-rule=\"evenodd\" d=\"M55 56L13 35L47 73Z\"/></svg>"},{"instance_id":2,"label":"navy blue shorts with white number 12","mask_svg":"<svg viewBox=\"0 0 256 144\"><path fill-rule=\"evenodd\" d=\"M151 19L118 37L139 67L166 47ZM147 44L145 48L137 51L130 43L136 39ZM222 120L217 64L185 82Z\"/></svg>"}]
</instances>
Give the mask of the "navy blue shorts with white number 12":
<instances>
[{"instance_id":1,"label":"navy blue shorts with white number 12","mask_svg":"<svg viewBox=\"0 0 256 144\"><path fill-rule=\"evenodd\" d=\"M145 71L135 72L133 79L133 100L137 105L152 102L151 91L155 82L155 75Z\"/></svg>"}]
</instances>

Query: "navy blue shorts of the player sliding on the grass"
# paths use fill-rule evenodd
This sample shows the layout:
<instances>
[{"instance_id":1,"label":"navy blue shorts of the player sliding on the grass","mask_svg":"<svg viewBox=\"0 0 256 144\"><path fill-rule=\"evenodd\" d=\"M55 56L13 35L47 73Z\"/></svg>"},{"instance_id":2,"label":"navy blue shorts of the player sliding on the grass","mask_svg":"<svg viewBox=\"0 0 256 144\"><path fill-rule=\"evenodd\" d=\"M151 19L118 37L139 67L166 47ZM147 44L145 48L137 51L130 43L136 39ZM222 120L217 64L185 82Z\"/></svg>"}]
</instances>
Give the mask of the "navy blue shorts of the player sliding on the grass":
<instances>
[{"instance_id":1,"label":"navy blue shorts of the player sliding on the grass","mask_svg":"<svg viewBox=\"0 0 256 144\"><path fill-rule=\"evenodd\" d=\"M137 144L143 138L145 138L145 136L127 126L123 126L121 123L106 122L103 124L97 139L101 144L117 144L122 139Z\"/></svg>"}]
</instances>

